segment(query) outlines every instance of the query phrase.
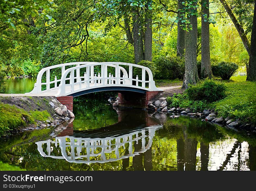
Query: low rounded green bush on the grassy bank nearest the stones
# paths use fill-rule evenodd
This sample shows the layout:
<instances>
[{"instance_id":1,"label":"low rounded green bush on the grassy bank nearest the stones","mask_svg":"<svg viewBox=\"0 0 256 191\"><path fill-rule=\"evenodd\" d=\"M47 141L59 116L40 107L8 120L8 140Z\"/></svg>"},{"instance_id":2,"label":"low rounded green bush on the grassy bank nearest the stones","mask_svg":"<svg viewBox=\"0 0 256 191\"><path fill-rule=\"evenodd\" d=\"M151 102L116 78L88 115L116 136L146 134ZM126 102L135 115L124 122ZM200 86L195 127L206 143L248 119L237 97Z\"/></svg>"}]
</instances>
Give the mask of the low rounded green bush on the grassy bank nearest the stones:
<instances>
[{"instance_id":1,"label":"low rounded green bush on the grassy bank nearest the stones","mask_svg":"<svg viewBox=\"0 0 256 191\"><path fill-rule=\"evenodd\" d=\"M225 97L225 90L226 87L223 83L206 79L196 85L190 85L186 93L191 100L205 100L211 103Z\"/></svg>"}]
</instances>

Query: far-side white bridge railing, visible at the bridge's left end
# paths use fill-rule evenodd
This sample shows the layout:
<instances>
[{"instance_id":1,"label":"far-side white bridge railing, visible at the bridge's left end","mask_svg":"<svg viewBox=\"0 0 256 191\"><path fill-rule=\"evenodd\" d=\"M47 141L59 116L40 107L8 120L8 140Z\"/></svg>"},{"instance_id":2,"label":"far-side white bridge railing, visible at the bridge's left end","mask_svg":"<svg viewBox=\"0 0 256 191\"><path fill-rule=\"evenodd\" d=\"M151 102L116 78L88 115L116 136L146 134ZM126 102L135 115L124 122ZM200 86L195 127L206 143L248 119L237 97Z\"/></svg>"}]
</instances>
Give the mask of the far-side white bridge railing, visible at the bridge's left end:
<instances>
[{"instance_id":1,"label":"far-side white bridge railing, visible at the bridge's left end","mask_svg":"<svg viewBox=\"0 0 256 191\"><path fill-rule=\"evenodd\" d=\"M72 66L72 65L79 66L79 65L91 64L91 63L95 63L95 62L64 63L64 64L58 64L58 65L53 65L53 66L43 68L39 71L39 73L37 75L36 83L34 85L34 89L31 92L29 92L29 94L31 94L31 93L42 93L42 92L45 92L47 90L58 87L58 82L61 81L61 78L58 78L57 76L55 76L54 80L50 81L51 69L61 68L61 76L63 76L66 66ZM46 73L46 82L42 82L42 77L45 73ZM79 73L79 70L77 70L77 76L80 76L80 74L78 74L78 73ZM78 79L79 77L74 77L74 78ZM54 83L54 86L51 88L51 84L53 84L53 83ZM43 85L46 86L45 90L42 90ZM26 93L26 94L28 94L28 93Z\"/></svg>"}]
</instances>

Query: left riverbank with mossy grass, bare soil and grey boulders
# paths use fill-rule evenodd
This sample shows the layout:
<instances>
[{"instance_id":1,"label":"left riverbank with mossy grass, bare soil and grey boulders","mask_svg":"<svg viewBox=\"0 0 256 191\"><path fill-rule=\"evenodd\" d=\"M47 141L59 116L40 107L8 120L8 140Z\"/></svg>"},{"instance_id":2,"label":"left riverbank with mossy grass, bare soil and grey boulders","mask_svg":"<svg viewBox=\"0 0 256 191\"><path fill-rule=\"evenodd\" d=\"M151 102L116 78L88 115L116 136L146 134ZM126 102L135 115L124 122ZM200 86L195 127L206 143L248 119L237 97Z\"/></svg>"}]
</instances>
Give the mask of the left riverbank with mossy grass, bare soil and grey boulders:
<instances>
[{"instance_id":1,"label":"left riverbank with mossy grass, bare soil and grey boulders","mask_svg":"<svg viewBox=\"0 0 256 191\"><path fill-rule=\"evenodd\" d=\"M63 110L62 114L58 113ZM0 136L57 125L74 117L54 97L0 96Z\"/></svg>"}]
</instances>

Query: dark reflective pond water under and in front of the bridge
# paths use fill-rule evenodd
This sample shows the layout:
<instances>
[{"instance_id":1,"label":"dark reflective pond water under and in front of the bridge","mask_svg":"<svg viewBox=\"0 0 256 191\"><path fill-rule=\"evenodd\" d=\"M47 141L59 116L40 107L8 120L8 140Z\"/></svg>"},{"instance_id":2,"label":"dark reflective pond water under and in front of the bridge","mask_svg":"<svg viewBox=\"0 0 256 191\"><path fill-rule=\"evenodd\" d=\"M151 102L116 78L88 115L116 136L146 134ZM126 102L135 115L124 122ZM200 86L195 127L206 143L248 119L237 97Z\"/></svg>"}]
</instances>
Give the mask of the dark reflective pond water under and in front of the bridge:
<instances>
[{"instance_id":1,"label":"dark reflective pond water under and in front of the bridge","mask_svg":"<svg viewBox=\"0 0 256 191\"><path fill-rule=\"evenodd\" d=\"M75 119L0 140L0 160L26 170L256 170L256 136L186 116L114 109L81 97ZM52 132L55 132L52 137Z\"/></svg>"}]
</instances>

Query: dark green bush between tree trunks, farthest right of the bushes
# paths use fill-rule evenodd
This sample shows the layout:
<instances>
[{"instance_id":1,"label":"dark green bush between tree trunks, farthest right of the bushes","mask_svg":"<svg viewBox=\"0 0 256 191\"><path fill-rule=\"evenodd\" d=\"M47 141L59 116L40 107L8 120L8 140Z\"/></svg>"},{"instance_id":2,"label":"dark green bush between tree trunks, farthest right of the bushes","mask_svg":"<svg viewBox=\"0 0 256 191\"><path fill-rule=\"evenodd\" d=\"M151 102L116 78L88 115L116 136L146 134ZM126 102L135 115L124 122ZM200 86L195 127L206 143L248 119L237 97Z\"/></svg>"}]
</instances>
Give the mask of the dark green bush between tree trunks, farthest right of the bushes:
<instances>
[{"instance_id":1,"label":"dark green bush between tree trunks, farthest right of the bushes","mask_svg":"<svg viewBox=\"0 0 256 191\"><path fill-rule=\"evenodd\" d=\"M212 74L221 77L223 80L229 80L238 70L238 65L232 62L220 62L211 66Z\"/></svg>"}]
</instances>

